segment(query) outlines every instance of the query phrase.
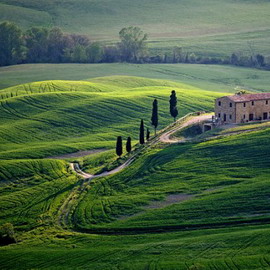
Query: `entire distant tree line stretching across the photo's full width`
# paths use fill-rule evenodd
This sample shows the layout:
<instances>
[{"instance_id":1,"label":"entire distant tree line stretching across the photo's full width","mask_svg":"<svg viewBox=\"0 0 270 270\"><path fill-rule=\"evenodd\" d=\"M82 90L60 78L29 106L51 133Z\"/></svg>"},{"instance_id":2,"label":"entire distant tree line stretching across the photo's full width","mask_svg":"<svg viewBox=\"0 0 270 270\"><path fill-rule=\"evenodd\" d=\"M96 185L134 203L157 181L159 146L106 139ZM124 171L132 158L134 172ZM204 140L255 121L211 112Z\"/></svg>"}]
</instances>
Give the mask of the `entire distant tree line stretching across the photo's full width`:
<instances>
[{"instance_id":1,"label":"entire distant tree line stretching across the photo's full width","mask_svg":"<svg viewBox=\"0 0 270 270\"><path fill-rule=\"evenodd\" d=\"M230 64L270 68L262 54L232 53L228 57L207 57L176 46L171 52L154 54L147 48L148 35L139 27L125 27L116 45L91 41L88 36L64 33L61 28L32 27L22 31L12 22L0 24L0 65L21 63L190 63Z\"/></svg>"}]
</instances>

